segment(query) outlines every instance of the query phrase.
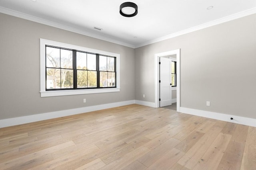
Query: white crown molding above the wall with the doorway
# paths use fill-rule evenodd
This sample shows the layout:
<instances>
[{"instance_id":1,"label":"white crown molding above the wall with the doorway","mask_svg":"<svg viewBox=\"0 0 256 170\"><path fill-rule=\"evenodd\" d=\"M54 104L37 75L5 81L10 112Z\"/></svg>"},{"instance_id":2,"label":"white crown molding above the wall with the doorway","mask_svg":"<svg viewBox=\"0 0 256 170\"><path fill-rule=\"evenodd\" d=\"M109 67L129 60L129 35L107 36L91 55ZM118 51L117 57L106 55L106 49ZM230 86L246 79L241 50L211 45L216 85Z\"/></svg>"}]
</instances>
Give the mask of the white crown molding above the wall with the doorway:
<instances>
[{"instance_id":1,"label":"white crown molding above the wall with the doorway","mask_svg":"<svg viewBox=\"0 0 256 170\"><path fill-rule=\"evenodd\" d=\"M186 33L190 33L190 32L193 32L193 31L200 30L200 29L204 29L204 28L207 28L207 27L210 27L210 26L213 26L213 25L218 25L220 23L228 22L228 21L231 21L231 20L242 18L244 16L249 16L249 15L252 15L252 14L256 14L256 8L252 8L250 10L246 10L246 11L242 11L242 12L239 12L239 13L236 13L236 14L232 14L230 16L226 16L226 17L220 18L218 20L203 23L201 25L197 25L195 27L184 29L182 31L178 31L176 33L172 33L172 34L160 37L160 38L156 38L156 39L153 39L153 40L150 40L150 41L146 41L144 43L135 45L135 48L143 47L145 45L149 45L149 44L153 44L153 43L157 43L159 41L163 41L163 40L166 40L166 39L177 37L179 35L183 35L183 34L186 34Z\"/></svg>"}]
</instances>

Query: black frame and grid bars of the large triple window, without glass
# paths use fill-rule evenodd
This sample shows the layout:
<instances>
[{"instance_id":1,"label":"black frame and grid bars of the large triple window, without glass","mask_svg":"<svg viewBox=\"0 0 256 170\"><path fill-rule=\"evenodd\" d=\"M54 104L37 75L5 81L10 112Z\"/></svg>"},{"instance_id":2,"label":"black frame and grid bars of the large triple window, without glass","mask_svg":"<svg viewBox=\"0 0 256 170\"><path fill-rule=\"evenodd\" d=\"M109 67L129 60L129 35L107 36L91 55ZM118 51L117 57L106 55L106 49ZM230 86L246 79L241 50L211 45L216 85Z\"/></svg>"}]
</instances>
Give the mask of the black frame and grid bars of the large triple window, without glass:
<instances>
[{"instance_id":1,"label":"black frame and grid bars of the large triple window, without glass","mask_svg":"<svg viewBox=\"0 0 256 170\"><path fill-rule=\"evenodd\" d=\"M91 53L91 52L87 52L87 51L80 51L80 50L76 50L76 49L68 49L68 48L64 48L64 47L57 47L57 46L53 46L53 45L45 45L45 63L46 63L46 47L53 47L53 48L58 48L58 49L65 49L65 50L71 50L73 53L73 68L61 68L61 66L59 67L59 69L70 69L73 70L73 88L49 88L47 89L47 68L52 68L52 67L47 67L45 64L45 90L46 91L55 91L55 90L82 90L82 89L102 89L102 88L117 88L116 86L116 80L117 80L117 70L116 70L116 57L114 56L110 56L110 55L103 55L103 54L98 54L98 53ZM87 87L87 88L78 88L77 87L77 70L81 70L81 69L77 69L76 67L76 52L81 52L81 53L87 53L87 54L94 54L96 55L96 70L88 70L86 68L86 70L88 71L96 71L97 72L97 87ZM106 57L112 57L114 58L114 71L106 71L106 72L114 72L115 73L115 86L109 86L109 87L100 87L100 67L99 67L99 56L106 56ZM60 56L61 58L61 56ZM87 57L86 57L87 60ZM60 61L61 63L61 61ZM87 62L86 62L87 63ZM87 77L88 78L88 77ZM88 82L88 81L87 81Z\"/></svg>"}]
</instances>

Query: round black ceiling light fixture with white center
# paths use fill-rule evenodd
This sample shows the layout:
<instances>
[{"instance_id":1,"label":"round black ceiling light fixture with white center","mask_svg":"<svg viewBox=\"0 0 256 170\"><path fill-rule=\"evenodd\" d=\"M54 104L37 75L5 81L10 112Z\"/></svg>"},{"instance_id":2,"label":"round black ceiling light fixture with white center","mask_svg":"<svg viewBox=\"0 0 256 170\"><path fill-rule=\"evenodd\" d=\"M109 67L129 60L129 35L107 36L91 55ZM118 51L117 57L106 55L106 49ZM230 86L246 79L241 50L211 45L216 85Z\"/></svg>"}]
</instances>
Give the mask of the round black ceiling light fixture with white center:
<instances>
[{"instance_id":1,"label":"round black ceiling light fixture with white center","mask_svg":"<svg viewBox=\"0 0 256 170\"><path fill-rule=\"evenodd\" d=\"M124 17L133 17L138 14L138 6L133 2L124 2L120 5L119 12Z\"/></svg>"}]
</instances>

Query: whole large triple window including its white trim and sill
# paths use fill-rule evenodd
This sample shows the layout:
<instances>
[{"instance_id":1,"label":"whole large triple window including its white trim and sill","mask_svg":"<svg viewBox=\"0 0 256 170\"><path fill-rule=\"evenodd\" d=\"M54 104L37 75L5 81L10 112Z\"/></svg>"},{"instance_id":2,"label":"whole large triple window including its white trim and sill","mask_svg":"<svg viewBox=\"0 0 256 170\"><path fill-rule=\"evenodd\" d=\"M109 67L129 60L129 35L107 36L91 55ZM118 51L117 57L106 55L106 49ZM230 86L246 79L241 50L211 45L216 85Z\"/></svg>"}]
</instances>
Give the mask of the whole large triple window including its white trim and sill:
<instances>
[{"instance_id":1,"label":"whole large triple window including its white trim and sill","mask_svg":"<svg viewBox=\"0 0 256 170\"><path fill-rule=\"evenodd\" d=\"M40 39L41 97L120 91L120 55Z\"/></svg>"}]
</instances>

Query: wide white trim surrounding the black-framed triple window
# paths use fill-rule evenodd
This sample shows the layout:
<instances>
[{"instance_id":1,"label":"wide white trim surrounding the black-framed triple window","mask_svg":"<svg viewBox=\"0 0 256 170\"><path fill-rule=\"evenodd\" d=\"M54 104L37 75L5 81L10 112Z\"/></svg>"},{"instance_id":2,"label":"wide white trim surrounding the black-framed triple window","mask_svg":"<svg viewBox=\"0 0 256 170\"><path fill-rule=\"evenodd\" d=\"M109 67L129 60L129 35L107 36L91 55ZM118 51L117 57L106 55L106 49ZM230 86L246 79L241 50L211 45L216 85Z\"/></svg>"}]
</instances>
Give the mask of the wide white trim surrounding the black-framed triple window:
<instances>
[{"instance_id":1,"label":"wide white trim surrounding the black-framed triple window","mask_svg":"<svg viewBox=\"0 0 256 170\"><path fill-rule=\"evenodd\" d=\"M45 84L46 84L45 46L46 45L52 45L52 46L56 46L56 47L75 49L75 50L86 51L86 52L90 52L90 53L97 53L97 54L116 57L116 88L46 91L46 86L45 86ZM120 54L96 50L96 49L90 49L90 48L86 48L86 47L80 47L80 46L76 46L76 45L70 45L70 44L66 44L66 43L60 43L60 42L56 42L56 41L50 41L47 39L40 39L40 93L41 93L41 97L66 96L66 95L76 95L76 94L108 93L108 92L120 92Z\"/></svg>"}]
</instances>

